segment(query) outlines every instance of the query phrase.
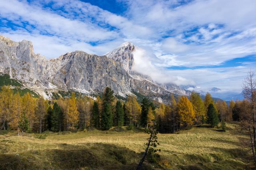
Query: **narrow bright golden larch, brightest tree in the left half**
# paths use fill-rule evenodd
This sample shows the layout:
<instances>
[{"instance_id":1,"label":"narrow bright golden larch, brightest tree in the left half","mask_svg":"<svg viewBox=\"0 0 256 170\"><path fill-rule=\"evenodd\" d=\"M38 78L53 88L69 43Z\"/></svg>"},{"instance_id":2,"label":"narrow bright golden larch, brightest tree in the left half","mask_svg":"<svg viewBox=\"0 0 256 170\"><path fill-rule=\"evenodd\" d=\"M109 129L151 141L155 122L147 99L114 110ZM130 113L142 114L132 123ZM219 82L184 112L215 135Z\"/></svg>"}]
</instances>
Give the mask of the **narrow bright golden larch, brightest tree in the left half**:
<instances>
[{"instance_id":1,"label":"narrow bright golden larch, brightest tree in the left half","mask_svg":"<svg viewBox=\"0 0 256 170\"><path fill-rule=\"evenodd\" d=\"M79 120L79 112L76 107L76 97L75 93L72 92L71 97L68 100L68 128L74 128Z\"/></svg>"}]
</instances>

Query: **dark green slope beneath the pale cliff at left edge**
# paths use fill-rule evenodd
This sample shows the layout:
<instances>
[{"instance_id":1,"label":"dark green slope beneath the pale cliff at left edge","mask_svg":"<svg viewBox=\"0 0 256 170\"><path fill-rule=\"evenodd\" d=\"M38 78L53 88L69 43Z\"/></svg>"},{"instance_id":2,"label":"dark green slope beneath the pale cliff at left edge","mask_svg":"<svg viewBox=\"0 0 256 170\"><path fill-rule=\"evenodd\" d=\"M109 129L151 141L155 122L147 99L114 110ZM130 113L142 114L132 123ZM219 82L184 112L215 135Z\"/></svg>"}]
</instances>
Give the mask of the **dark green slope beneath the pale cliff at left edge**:
<instances>
[{"instance_id":1,"label":"dark green slope beneath the pale cliff at left edge","mask_svg":"<svg viewBox=\"0 0 256 170\"><path fill-rule=\"evenodd\" d=\"M15 87L13 91L16 93L18 90L21 96L23 96L28 92L28 93L31 93L34 97L38 97L38 94L29 90L28 88L23 88L22 84L19 81L11 79L8 74L0 75L0 87L2 86Z\"/></svg>"}]
</instances>

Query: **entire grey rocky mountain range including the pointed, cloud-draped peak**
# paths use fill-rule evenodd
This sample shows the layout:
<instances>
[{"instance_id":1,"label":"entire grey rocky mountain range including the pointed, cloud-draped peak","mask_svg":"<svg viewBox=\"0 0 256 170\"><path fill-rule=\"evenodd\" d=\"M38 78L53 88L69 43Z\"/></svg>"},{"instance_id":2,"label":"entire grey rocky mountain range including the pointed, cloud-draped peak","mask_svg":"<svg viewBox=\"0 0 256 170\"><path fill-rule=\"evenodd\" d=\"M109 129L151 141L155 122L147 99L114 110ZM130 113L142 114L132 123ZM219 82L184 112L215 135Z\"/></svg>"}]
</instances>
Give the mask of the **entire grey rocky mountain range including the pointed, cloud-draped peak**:
<instances>
[{"instance_id":1,"label":"entire grey rocky mountain range including the pointed, cloud-draped peak","mask_svg":"<svg viewBox=\"0 0 256 170\"><path fill-rule=\"evenodd\" d=\"M149 76L132 71L135 50L135 45L126 42L106 56L74 51L49 60L34 54L30 41L14 42L0 35L0 74L9 74L45 98L56 90L90 94L103 92L107 86L123 97L136 90L163 103L170 101L172 93L189 94L178 86L157 84Z\"/></svg>"}]
</instances>

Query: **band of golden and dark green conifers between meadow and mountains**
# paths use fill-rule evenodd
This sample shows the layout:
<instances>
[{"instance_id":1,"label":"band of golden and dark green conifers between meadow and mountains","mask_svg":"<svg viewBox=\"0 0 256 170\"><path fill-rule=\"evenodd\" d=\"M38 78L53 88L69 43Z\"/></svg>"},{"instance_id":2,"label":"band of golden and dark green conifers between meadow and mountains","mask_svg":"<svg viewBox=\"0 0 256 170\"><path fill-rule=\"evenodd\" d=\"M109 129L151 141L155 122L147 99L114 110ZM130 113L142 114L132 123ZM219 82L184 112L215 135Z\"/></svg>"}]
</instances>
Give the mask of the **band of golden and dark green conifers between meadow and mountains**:
<instances>
[{"instance_id":1,"label":"band of golden and dark green conifers between meadow and mountains","mask_svg":"<svg viewBox=\"0 0 256 170\"><path fill-rule=\"evenodd\" d=\"M0 129L18 131L66 131L95 127L108 130L113 126L146 127L157 121L158 131L175 132L191 125L209 123L212 126L224 121L240 120L242 115L240 102L231 101L229 107L225 101L214 103L208 93L204 101L196 92L189 99L171 96L170 105L153 104L144 98L141 104L135 96L128 96L124 102L114 97L114 92L106 88L102 98L96 100L87 96L45 100L34 98L27 93L14 94L10 86L0 91ZM242 101L244 102L244 101Z\"/></svg>"}]
</instances>

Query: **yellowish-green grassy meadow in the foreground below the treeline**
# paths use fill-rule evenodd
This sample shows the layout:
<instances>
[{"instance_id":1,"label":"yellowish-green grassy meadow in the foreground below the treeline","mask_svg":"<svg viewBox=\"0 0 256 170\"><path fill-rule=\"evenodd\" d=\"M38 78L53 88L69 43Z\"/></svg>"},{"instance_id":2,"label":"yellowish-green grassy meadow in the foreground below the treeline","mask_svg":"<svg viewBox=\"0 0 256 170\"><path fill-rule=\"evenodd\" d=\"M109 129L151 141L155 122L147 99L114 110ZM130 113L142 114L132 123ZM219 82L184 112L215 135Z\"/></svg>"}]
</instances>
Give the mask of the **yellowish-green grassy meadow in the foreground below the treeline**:
<instances>
[{"instance_id":1,"label":"yellowish-green grassy meadow in the foreground below the treeline","mask_svg":"<svg viewBox=\"0 0 256 170\"><path fill-rule=\"evenodd\" d=\"M193 127L179 134L158 134L160 160L144 169L244 169L247 156L240 146L236 124L226 133ZM1 135L2 133L2 135ZM78 131L14 136L0 131L0 169L135 169L147 134L137 131Z\"/></svg>"}]
</instances>

